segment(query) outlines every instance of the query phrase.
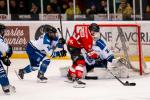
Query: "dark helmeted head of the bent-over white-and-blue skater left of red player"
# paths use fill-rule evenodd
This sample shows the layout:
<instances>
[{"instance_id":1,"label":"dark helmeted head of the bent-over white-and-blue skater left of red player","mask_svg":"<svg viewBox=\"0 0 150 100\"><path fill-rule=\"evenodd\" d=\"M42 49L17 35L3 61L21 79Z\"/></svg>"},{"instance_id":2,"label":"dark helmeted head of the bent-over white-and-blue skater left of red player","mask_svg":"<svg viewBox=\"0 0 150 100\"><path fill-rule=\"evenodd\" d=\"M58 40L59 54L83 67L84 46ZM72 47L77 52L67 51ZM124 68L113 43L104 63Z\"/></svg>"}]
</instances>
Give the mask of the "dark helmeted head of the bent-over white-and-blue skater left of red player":
<instances>
[{"instance_id":1,"label":"dark helmeted head of the bent-over white-and-blue skater left of red player","mask_svg":"<svg viewBox=\"0 0 150 100\"><path fill-rule=\"evenodd\" d=\"M54 40L55 38L58 37L57 36L57 30L53 26L50 26L50 27L46 28L45 32L48 34L48 36L51 40Z\"/></svg>"}]
</instances>

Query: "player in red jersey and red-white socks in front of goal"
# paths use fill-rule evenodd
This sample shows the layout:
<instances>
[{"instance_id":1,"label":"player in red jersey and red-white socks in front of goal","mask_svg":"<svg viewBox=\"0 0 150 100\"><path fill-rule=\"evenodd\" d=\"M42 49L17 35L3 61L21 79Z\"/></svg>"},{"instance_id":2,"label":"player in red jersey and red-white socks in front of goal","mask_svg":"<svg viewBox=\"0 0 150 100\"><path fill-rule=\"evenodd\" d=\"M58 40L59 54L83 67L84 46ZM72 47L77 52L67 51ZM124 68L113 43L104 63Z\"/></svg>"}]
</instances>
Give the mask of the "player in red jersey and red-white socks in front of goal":
<instances>
[{"instance_id":1,"label":"player in red jersey and red-white socks in front of goal","mask_svg":"<svg viewBox=\"0 0 150 100\"><path fill-rule=\"evenodd\" d=\"M67 49L73 61L72 66L68 69L68 79L74 84L74 87L85 87L85 83L80 79L83 77L85 60L81 53L84 49L90 58L98 58L98 54L92 50L93 37L99 32L99 26L96 23L90 24L88 28L79 30L74 33L67 42Z\"/></svg>"}]
</instances>

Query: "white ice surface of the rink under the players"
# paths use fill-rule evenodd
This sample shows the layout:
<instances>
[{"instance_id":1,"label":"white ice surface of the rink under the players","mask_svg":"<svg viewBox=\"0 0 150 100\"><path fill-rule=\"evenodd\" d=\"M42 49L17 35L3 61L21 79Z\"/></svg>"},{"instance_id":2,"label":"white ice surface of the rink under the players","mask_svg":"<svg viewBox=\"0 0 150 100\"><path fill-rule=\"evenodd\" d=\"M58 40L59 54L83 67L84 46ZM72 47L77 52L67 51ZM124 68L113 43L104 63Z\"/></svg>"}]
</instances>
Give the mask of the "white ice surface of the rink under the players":
<instances>
[{"instance_id":1,"label":"white ice surface of the rink under the players","mask_svg":"<svg viewBox=\"0 0 150 100\"><path fill-rule=\"evenodd\" d=\"M121 79L135 82L136 86L123 86L116 79L84 80L86 88L73 88L60 76L60 67L69 66L70 60L52 60L45 74L47 83L37 82L37 71L19 80L14 70L28 64L27 59L12 59L9 67L10 83L16 93L5 95L0 89L0 100L150 100L150 75Z\"/></svg>"}]
</instances>

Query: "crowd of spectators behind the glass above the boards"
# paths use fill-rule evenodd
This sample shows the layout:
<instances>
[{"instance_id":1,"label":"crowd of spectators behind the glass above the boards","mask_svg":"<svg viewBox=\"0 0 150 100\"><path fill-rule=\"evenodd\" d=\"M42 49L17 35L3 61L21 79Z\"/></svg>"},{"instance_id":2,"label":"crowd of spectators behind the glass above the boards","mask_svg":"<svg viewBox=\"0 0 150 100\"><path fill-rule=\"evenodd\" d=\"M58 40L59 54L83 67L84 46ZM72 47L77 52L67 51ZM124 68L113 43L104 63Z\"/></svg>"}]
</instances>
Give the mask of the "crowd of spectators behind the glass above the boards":
<instances>
[{"instance_id":1,"label":"crowd of spectators behind the glass above the boards","mask_svg":"<svg viewBox=\"0 0 150 100\"><path fill-rule=\"evenodd\" d=\"M73 0L43 0L44 14L62 14L67 15L68 20L74 20L76 15L86 15L87 19L93 19L95 14L108 14L107 0L75 0L75 12ZM109 13L113 11L113 0L109 0ZM121 14L123 20L132 20L133 2L132 0L116 0L116 14ZM145 0L143 13L150 15L150 1ZM33 20L39 19L39 14L42 13L40 0L0 0L0 14L10 13L14 19L17 19L19 14L30 14ZM145 7L145 8L144 8ZM10 9L8 12L8 8ZM150 18L149 18L150 19Z\"/></svg>"}]
</instances>

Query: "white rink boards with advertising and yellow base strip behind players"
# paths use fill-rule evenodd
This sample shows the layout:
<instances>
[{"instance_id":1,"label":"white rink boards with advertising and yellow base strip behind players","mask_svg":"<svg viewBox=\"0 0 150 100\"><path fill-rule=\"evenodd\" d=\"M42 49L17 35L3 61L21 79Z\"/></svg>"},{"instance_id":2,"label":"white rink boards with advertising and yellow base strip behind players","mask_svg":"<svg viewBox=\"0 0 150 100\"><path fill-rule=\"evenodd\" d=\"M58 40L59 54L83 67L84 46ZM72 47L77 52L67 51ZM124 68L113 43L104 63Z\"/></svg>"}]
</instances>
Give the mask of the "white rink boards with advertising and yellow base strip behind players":
<instances>
[{"instance_id":1,"label":"white rink boards with advertising and yellow base strip behind players","mask_svg":"<svg viewBox=\"0 0 150 100\"><path fill-rule=\"evenodd\" d=\"M93 21L98 24L138 24L141 26L141 33L142 33L142 50L144 55L144 60L150 61L150 30L149 30L149 24L150 22L132 22L132 21ZM1 23L4 23L7 26L6 31L6 42L13 45L14 47L14 54L12 58L27 58L27 55L25 53L25 45L29 40L33 40L35 38L35 32L38 27L40 27L43 24L50 24L56 28L60 28L59 21L22 21L22 22L12 22L12 21L1 21ZM66 34L69 33L72 35L74 32L74 26L78 24L90 24L91 21L63 21L62 28L63 28L63 34L64 37L66 37ZM107 30L103 30L107 33ZM60 35L60 34L59 34ZM131 34L132 35L132 34ZM68 39L68 37L67 37ZM134 49L134 48L133 48ZM67 54L67 57L61 58L61 59L70 59L69 54ZM138 55L131 56L131 59L133 61L136 61L138 59Z\"/></svg>"}]
</instances>

